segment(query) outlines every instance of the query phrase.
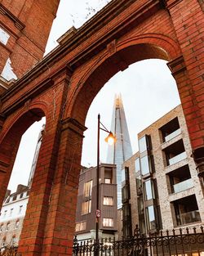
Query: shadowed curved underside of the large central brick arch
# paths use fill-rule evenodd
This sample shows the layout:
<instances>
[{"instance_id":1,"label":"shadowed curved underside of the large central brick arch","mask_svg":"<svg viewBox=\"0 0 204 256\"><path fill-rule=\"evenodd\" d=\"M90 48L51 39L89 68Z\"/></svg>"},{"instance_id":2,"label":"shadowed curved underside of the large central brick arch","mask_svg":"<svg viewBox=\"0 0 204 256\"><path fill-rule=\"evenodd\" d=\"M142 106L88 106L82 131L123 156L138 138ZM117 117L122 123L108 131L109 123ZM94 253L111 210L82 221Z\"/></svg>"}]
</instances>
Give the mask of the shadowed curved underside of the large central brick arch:
<instances>
[{"instance_id":1,"label":"shadowed curved underside of the large central brick arch","mask_svg":"<svg viewBox=\"0 0 204 256\"><path fill-rule=\"evenodd\" d=\"M118 52L115 52L112 56L106 54L100 64L92 65L90 71L79 81L76 87L78 92L75 92L75 97L73 97L70 104L71 110L69 110L69 113L74 119L78 119L81 124L85 124L87 111L97 93L114 74L126 70L129 65L148 59L172 61L176 56L180 56L180 49L172 39L170 39L171 43L166 43L166 48L162 47L165 42L161 38L152 38L152 43L141 43L141 40L142 42L145 41L144 38L137 38L136 44L133 43L134 40L121 43ZM156 43L156 40L160 44L153 44L154 41ZM151 42L149 37L146 38L146 41Z\"/></svg>"}]
</instances>

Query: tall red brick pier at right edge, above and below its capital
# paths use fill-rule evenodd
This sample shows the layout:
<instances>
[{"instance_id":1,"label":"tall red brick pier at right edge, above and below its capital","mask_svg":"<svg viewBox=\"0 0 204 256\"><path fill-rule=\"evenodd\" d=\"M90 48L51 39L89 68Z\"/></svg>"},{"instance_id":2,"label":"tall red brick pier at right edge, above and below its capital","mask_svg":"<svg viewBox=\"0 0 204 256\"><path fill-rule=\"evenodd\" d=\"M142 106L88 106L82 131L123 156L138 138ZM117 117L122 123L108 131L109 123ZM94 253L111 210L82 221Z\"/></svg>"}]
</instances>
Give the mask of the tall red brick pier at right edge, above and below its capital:
<instances>
[{"instance_id":1,"label":"tall red brick pier at right edge, above and below its capital","mask_svg":"<svg viewBox=\"0 0 204 256\"><path fill-rule=\"evenodd\" d=\"M193 150L204 150L204 14L197 0L166 0L182 56L169 63ZM183 70L182 70L183 68Z\"/></svg>"}]
</instances>

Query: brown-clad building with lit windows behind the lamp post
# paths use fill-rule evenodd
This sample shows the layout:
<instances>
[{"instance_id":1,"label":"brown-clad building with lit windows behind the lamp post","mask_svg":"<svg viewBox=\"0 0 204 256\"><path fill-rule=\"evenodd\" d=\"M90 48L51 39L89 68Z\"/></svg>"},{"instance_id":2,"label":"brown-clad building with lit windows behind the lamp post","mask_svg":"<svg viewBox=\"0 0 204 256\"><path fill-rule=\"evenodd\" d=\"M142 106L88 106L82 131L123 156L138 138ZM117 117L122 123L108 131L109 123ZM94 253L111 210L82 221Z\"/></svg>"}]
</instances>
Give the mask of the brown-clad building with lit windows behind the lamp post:
<instances>
[{"instance_id":1,"label":"brown-clad building with lit windows behind the lamp post","mask_svg":"<svg viewBox=\"0 0 204 256\"><path fill-rule=\"evenodd\" d=\"M100 164L99 238L113 238L117 231L116 165ZM84 168L79 177L76 235L78 240L95 239L96 168Z\"/></svg>"}]
</instances>

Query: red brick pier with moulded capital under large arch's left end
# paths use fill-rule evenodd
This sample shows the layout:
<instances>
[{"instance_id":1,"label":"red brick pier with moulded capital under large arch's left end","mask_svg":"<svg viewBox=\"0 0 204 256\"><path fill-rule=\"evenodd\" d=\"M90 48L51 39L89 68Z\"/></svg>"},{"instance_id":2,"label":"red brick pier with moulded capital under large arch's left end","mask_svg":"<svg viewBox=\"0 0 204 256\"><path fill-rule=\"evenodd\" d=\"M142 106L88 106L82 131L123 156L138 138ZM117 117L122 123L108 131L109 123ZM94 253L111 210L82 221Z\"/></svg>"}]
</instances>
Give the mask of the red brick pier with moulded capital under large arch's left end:
<instances>
[{"instance_id":1,"label":"red brick pier with moulded capital under large arch's left end","mask_svg":"<svg viewBox=\"0 0 204 256\"><path fill-rule=\"evenodd\" d=\"M56 173L43 240L43 255L72 254L82 138L85 129L76 119L65 119L62 123Z\"/></svg>"}]
</instances>

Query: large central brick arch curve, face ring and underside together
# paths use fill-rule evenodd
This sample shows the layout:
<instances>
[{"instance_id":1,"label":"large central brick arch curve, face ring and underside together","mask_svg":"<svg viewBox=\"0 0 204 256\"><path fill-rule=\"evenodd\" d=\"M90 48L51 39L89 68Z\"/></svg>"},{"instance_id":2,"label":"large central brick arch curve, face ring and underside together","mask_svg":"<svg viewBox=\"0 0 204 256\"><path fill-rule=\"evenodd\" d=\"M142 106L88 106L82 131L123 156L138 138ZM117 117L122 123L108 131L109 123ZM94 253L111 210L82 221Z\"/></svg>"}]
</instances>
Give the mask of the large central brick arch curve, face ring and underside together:
<instances>
[{"instance_id":1,"label":"large central brick arch curve, face ring and underside together","mask_svg":"<svg viewBox=\"0 0 204 256\"><path fill-rule=\"evenodd\" d=\"M91 102L106 82L129 65L147 59L171 61L180 57L180 47L173 39L160 34L144 34L128 38L121 43L112 42L107 51L91 66L84 67L86 72L81 79L71 83L72 100L67 106L67 116L85 124L86 113ZM74 74L73 74L74 77ZM72 89L73 88L73 89Z\"/></svg>"}]
</instances>

